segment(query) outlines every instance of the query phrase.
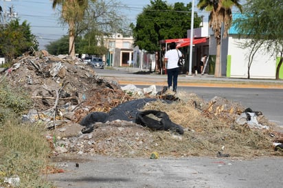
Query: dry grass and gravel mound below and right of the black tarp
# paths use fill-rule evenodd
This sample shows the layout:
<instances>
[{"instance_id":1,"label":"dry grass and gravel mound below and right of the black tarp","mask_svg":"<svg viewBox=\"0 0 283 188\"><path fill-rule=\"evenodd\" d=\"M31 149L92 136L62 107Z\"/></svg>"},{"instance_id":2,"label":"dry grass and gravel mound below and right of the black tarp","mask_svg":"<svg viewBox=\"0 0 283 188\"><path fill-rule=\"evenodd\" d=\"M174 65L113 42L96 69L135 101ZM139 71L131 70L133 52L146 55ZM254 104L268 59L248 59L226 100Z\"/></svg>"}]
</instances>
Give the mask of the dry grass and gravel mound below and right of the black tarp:
<instances>
[{"instance_id":1,"label":"dry grass and gravel mound below and right of the black tarp","mask_svg":"<svg viewBox=\"0 0 283 188\"><path fill-rule=\"evenodd\" d=\"M258 121L269 126L269 130L249 128L247 124L240 126L235 122L245 110L240 104L220 97L204 102L195 94L178 95L181 101L168 104L157 100L148 103L142 110L161 110L167 113L171 121L184 128L182 135L150 130L130 121L117 120L97 123L90 134L75 139L70 134L67 141L60 139L57 143L65 145L69 154L81 152L117 157L148 158L152 152L159 153L160 157L216 156L218 152L229 154L232 158L282 155L273 150L274 138L269 133L273 132L274 125L264 116L258 117ZM57 130L51 134L68 138L67 132Z\"/></svg>"}]
</instances>

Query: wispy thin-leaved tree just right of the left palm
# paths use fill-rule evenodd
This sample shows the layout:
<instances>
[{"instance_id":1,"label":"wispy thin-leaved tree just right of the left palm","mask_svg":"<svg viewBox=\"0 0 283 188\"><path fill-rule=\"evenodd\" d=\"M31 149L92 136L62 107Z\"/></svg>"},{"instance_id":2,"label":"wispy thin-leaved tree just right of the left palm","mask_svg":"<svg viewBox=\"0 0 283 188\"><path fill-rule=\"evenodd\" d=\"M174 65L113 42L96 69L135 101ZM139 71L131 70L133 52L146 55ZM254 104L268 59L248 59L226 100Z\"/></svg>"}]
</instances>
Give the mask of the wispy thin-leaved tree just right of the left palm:
<instances>
[{"instance_id":1,"label":"wispy thin-leaved tree just right of the left palm","mask_svg":"<svg viewBox=\"0 0 283 188\"><path fill-rule=\"evenodd\" d=\"M102 56L107 53L104 40L114 33L124 34L127 26L126 16L119 10L120 3L115 1L96 1L90 3L84 20L78 25L82 40L80 54Z\"/></svg>"}]
</instances>

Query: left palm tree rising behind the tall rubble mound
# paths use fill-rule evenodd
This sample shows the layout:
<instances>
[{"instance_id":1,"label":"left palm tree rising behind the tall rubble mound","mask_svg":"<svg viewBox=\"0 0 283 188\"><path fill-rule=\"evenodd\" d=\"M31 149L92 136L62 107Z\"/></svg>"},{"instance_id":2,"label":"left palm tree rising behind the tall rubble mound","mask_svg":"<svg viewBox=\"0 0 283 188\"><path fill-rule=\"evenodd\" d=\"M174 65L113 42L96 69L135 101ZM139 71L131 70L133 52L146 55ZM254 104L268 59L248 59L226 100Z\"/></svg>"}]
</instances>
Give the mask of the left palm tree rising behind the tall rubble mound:
<instances>
[{"instance_id":1,"label":"left palm tree rising behind the tall rubble mound","mask_svg":"<svg viewBox=\"0 0 283 188\"><path fill-rule=\"evenodd\" d=\"M76 23L84 19L88 0L53 0L52 8L62 6L61 16L69 25L69 55L75 56Z\"/></svg>"}]
</instances>

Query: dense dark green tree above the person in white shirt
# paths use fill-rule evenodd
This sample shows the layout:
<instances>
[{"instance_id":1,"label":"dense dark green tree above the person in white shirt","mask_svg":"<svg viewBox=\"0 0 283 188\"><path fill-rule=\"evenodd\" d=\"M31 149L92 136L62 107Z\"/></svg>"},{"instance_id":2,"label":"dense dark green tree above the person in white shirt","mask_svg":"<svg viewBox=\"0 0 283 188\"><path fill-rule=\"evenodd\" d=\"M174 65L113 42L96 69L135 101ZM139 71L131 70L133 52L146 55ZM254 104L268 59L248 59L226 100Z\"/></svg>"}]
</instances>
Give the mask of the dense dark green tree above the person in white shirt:
<instances>
[{"instance_id":1,"label":"dense dark green tree above the person in white shirt","mask_svg":"<svg viewBox=\"0 0 283 188\"><path fill-rule=\"evenodd\" d=\"M159 40L169 38L187 38L190 30L192 3L174 3L153 0L137 16L136 25L132 24L135 45L149 52L159 50ZM194 16L194 27L199 27L201 17Z\"/></svg>"}]
</instances>

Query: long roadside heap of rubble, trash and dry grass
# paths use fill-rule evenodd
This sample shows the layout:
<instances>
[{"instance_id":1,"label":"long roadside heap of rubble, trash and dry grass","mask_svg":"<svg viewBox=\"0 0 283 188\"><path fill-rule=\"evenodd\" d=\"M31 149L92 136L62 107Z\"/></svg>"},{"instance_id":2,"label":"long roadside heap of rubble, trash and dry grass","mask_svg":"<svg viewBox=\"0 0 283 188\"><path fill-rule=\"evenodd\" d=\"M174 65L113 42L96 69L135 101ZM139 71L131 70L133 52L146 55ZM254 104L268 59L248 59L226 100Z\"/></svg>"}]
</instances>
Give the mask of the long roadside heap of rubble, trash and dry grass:
<instances>
[{"instance_id":1,"label":"long roadside heap of rubble, trash and dry grass","mask_svg":"<svg viewBox=\"0 0 283 188\"><path fill-rule=\"evenodd\" d=\"M34 106L23 121L45 126L54 155L149 157L157 152L159 157L247 158L281 154L279 149L274 150L273 136L279 134L273 130L275 125L258 111L217 96L205 102L194 93L180 92L176 96L166 89L156 91L155 86L129 92L133 86L122 87L100 77L78 58L42 53L22 56L6 71L5 79L30 93ZM135 99L150 100L140 108L117 107ZM139 114L139 121L120 118L119 113L124 113L135 119L131 110ZM114 119L107 116L106 121L82 124L91 113L109 112L116 113ZM147 117L150 114L154 117ZM164 123L163 117L180 126L183 134L171 128L145 126L150 121L158 127ZM85 128L91 129L82 131Z\"/></svg>"}]
</instances>

